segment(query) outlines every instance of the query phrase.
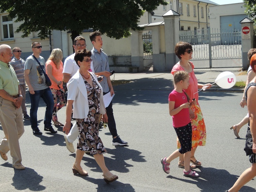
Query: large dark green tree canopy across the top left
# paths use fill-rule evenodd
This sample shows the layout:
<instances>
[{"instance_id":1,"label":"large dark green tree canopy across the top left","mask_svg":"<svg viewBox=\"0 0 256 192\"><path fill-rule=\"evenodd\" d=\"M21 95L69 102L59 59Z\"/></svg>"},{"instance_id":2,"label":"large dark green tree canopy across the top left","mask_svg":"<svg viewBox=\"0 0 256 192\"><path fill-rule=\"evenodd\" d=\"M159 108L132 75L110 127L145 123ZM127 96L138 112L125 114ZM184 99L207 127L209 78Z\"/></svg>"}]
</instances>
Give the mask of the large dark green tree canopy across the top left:
<instances>
[{"instance_id":1,"label":"large dark green tree canopy across the top left","mask_svg":"<svg viewBox=\"0 0 256 192\"><path fill-rule=\"evenodd\" d=\"M68 30L72 40L84 29L99 30L108 37L120 39L129 30L141 30L137 23L143 10L151 11L164 0L1 0L0 12L7 11L15 22L23 21L16 32L28 37L39 32L47 38L49 30Z\"/></svg>"}]
</instances>

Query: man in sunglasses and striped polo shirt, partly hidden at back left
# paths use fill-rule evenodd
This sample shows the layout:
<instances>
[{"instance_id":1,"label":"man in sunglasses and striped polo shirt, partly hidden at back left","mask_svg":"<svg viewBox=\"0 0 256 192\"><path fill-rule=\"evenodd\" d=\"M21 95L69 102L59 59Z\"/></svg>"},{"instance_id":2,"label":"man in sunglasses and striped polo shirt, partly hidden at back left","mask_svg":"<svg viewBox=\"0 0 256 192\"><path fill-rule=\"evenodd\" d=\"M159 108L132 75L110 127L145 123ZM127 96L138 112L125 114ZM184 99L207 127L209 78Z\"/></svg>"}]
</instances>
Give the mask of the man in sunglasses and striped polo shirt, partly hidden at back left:
<instances>
[{"instance_id":1,"label":"man in sunglasses and striped polo shirt, partly hidden at back left","mask_svg":"<svg viewBox=\"0 0 256 192\"><path fill-rule=\"evenodd\" d=\"M20 90L21 94L23 96L23 100L21 103L21 109L23 113L23 119L30 119L30 116L27 113L27 108L25 106L25 100L26 100L26 83L24 79L24 66L25 66L25 61L20 58L21 56L21 50L19 47L14 47L13 48L13 59L11 59L11 66L13 66L13 69L17 75L17 78L20 82Z\"/></svg>"}]
</instances>

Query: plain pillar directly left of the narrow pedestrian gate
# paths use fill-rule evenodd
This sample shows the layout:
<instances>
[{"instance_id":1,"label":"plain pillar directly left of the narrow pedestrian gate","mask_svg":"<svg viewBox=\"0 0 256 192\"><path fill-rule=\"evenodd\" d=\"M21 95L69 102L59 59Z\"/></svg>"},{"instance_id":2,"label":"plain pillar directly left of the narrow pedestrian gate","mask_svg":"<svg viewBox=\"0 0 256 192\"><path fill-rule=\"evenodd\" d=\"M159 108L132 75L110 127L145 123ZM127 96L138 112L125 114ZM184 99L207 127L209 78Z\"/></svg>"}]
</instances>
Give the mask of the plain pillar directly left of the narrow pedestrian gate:
<instances>
[{"instance_id":1,"label":"plain pillar directly left of the narrow pedestrian gate","mask_svg":"<svg viewBox=\"0 0 256 192\"><path fill-rule=\"evenodd\" d=\"M142 31L131 31L131 62L132 67L138 67L138 72L144 70L143 64L143 41L142 41Z\"/></svg>"}]
</instances>

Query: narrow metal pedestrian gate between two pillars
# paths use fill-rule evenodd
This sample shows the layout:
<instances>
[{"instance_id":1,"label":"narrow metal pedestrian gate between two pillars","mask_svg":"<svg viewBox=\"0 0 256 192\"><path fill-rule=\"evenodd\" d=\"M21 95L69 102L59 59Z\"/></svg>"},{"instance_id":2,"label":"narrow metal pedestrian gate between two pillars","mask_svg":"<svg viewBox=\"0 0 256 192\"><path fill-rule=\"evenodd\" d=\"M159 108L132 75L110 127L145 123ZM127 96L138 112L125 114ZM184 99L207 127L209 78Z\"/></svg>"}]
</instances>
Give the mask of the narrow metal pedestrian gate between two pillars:
<instances>
[{"instance_id":1,"label":"narrow metal pedestrian gate between two pillars","mask_svg":"<svg viewBox=\"0 0 256 192\"><path fill-rule=\"evenodd\" d=\"M153 67L152 32L142 34L144 67Z\"/></svg>"}]
</instances>

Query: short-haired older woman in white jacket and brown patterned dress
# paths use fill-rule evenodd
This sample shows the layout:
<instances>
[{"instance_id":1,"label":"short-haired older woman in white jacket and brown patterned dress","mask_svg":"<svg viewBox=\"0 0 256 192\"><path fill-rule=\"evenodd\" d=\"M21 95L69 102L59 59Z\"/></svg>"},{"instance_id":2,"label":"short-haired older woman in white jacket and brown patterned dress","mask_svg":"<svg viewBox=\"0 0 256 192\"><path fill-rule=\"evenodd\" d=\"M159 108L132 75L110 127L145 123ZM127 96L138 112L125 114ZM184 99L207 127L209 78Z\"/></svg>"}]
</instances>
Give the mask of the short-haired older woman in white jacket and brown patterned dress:
<instances>
[{"instance_id":1,"label":"short-haired older woman in white jacket and brown patterned dress","mask_svg":"<svg viewBox=\"0 0 256 192\"><path fill-rule=\"evenodd\" d=\"M102 169L106 183L118 179L106 167L103 153L107 152L99 137L99 118L103 114L103 120L107 122L106 109L103 103L103 92L94 73L88 72L91 68L91 51L86 49L76 52L74 57L79 70L69 80L68 102L66 105L66 123L63 131L68 133L71 127L71 113L73 105L73 118L79 130L79 140L76 149L76 158L72 167L74 174L87 176L88 172L82 169L81 161L85 151L95 158Z\"/></svg>"}]
</instances>

